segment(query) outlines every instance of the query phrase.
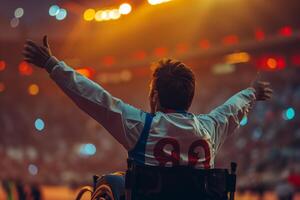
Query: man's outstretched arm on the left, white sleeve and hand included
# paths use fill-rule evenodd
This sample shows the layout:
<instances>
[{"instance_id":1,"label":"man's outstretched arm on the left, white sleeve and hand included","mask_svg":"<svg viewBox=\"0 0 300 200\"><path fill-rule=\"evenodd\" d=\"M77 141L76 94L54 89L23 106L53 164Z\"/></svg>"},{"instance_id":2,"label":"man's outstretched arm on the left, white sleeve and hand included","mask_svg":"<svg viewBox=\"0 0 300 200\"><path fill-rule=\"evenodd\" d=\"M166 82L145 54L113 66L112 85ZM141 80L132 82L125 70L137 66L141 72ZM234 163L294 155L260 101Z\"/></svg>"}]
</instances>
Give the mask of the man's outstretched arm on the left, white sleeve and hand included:
<instances>
[{"instance_id":1,"label":"man's outstretched arm on the left, white sleeve and hand included","mask_svg":"<svg viewBox=\"0 0 300 200\"><path fill-rule=\"evenodd\" d=\"M58 61L51 54L46 36L44 46L27 41L23 54L27 62L45 68L78 107L98 121L126 149L134 145L143 128L144 112L113 97L97 83Z\"/></svg>"}]
</instances>

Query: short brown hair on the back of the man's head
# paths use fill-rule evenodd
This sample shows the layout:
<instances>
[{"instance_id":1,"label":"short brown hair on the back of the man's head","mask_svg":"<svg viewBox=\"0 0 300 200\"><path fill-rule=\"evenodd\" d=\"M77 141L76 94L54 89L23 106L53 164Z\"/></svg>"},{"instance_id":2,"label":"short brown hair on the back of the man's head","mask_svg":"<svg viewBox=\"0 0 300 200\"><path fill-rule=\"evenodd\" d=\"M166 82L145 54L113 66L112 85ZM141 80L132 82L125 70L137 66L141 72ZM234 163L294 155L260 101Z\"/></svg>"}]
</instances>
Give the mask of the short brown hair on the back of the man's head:
<instances>
[{"instance_id":1,"label":"short brown hair on the back of the man's head","mask_svg":"<svg viewBox=\"0 0 300 200\"><path fill-rule=\"evenodd\" d=\"M154 64L153 86L158 92L161 107L187 111L195 93L195 76L180 61L161 59Z\"/></svg>"}]
</instances>

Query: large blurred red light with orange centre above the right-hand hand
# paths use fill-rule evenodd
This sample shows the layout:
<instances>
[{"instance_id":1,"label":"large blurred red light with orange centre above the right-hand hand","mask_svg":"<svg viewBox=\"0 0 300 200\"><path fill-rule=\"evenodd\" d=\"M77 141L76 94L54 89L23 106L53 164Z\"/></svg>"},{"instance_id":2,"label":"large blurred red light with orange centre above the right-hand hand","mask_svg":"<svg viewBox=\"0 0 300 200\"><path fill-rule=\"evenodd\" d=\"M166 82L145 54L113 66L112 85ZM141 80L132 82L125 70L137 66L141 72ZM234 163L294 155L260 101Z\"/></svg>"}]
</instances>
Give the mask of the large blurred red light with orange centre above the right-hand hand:
<instances>
[{"instance_id":1,"label":"large blurred red light with orange centre above the right-hand hand","mask_svg":"<svg viewBox=\"0 0 300 200\"><path fill-rule=\"evenodd\" d=\"M264 56L258 60L257 65L262 70L281 70L286 67L286 60L283 56Z\"/></svg>"}]
</instances>

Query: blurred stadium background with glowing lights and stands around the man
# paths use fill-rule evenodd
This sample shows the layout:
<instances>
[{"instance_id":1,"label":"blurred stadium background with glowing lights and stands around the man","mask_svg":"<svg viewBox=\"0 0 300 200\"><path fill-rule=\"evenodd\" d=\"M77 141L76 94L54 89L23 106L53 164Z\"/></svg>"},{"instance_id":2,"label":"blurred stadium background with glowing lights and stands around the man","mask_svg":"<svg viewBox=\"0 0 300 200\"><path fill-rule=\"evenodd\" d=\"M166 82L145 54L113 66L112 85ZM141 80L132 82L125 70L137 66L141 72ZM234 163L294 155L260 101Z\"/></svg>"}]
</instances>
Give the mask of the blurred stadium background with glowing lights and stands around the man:
<instances>
[{"instance_id":1,"label":"blurred stadium background with glowing lights and stands around the man","mask_svg":"<svg viewBox=\"0 0 300 200\"><path fill-rule=\"evenodd\" d=\"M42 45L44 35L58 60L144 111L153 63L162 58L192 69L189 112L196 114L250 87L259 73L273 96L255 102L214 165L237 163L236 200L300 199L299 6L296 0L0 0L0 199L71 200L93 175L127 169L127 151L109 131L45 70L24 61L26 40Z\"/></svg>"}]
</instances>

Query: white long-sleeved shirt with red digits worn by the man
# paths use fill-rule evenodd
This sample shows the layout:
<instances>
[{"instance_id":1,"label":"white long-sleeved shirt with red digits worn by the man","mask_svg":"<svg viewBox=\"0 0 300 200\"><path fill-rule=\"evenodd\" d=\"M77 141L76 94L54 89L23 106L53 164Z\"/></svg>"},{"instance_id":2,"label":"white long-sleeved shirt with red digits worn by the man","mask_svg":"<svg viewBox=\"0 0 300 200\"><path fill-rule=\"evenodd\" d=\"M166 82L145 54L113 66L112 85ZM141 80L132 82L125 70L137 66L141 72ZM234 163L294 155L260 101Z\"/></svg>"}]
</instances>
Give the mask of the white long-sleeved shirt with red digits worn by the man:
<instances>
[{"instance_id":1,"label":"white long-sleeved shirt with red digits worn by the man","mask_svg":"<svg viewBox=\"0 0 300 200\"><path fill-rule=\"evenodd\" d=\"M146 165L213 168L220 145L239 127L255 101L254 89L248 88L209 114L151 115L113 97L64 62L51 59L50 77L57 85L122 144L130 157Z\"/></svg>"}]
</instances>

